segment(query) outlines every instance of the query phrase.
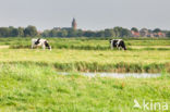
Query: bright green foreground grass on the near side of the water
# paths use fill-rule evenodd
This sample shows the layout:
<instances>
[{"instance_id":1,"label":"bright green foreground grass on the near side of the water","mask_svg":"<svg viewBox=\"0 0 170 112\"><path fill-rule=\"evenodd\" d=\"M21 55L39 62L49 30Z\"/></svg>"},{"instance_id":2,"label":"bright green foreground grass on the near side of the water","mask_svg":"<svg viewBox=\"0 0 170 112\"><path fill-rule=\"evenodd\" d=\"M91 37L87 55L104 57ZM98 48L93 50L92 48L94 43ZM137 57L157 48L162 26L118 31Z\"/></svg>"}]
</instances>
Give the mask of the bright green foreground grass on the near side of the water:
<instances>
[{"instance_id":1,"label":"bright green foreground grass on the near side of the water","mask_svg":"<svg viewBox=\"0 0 170 112\"><path fill-rule=\"evenodd\" d=\"M134 99L170 104L168 74L146 79L89 78L57 75L50 66L0 66L1 112L143 112L133 108Z\"/></svg>"}]
</instances>

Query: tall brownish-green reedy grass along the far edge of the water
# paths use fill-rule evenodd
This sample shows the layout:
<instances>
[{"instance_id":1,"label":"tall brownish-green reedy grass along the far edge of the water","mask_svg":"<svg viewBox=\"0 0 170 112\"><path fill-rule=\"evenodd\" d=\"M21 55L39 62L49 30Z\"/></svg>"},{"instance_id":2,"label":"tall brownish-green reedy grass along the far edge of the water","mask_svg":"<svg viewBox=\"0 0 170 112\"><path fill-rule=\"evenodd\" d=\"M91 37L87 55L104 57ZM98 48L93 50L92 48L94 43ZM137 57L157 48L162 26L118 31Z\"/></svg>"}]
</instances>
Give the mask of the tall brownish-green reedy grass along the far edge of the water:
<instances>
[{"instance_id":1,"label":"tall brownish-green reedy grass along the far edge of the water","mask_svg":"<svg viewBox=\"0 0 170 112\"><path fill-rule=\"evenodd\" d=\"M47 63L47 62L1 62L0 65L23 65L23 66L42 66L51 67L57 72L114 72L114 73L161 73L162 71L170 73L170 63L158 64L142 64L142 63L87 63L87 62L71 62L71 63Z\"/></svg>"}]
</instances>

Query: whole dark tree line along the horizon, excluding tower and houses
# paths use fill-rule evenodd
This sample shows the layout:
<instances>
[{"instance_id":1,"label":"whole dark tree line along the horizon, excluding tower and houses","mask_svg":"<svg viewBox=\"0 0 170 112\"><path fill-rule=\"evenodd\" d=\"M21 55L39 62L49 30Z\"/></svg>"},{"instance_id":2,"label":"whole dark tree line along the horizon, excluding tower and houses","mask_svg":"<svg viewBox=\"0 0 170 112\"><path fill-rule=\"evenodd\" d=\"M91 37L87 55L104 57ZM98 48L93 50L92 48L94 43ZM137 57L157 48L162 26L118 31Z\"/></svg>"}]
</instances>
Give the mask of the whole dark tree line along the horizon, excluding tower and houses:
<instances>
[{"instance_id":1,"label":"whole dark tree line along the horizon, excluding tower and houses","mask_svg":"<svg viewBox=\"0 0 170 112\"><path fill-rule=\"evenodd\" d=\"M133 27L131 30L138 32ZM73 28L52 28L46 29L41 33L35 26L27 27L0 27L0 37L132 37L131 30L123 27L106 28L104 30L82 30ZM160 32L156 28L154 32ZM165 30L167 37L170 37L170 30Z\"/></svg>"}]
</instances>

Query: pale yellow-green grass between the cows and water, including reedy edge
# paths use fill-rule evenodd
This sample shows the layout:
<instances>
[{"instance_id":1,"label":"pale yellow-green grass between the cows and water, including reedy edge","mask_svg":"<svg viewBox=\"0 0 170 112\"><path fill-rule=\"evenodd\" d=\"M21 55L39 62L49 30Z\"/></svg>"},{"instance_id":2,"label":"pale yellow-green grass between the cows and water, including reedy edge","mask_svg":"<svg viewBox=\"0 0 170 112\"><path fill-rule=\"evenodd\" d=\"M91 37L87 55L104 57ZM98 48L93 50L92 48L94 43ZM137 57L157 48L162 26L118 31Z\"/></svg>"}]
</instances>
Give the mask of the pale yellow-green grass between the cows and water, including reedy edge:
<instances>
[{"instance_id":1,"label":"pale yellow-green grass between the cows and water, including reedy edge","mask_svg":"<svg viewBox=\"0 0 170 112\"><path fill-rule=\"evenodd\" d=\"M0 62L74 72L170 72L170 51L0 49Z\"/></svg>"}]
</instances>

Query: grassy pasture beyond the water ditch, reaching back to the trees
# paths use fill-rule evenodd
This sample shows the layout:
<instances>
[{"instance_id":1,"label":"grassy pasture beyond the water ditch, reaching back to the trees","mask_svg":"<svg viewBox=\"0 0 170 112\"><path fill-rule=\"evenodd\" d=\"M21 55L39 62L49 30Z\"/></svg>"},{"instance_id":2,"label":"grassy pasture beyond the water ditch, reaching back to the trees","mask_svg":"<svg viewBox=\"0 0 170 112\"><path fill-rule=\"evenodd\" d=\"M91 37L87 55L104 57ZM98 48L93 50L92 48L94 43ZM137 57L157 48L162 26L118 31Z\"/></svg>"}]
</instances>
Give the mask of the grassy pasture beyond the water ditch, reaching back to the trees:
<instances>
[{"instance_id":1,"label":"grassy pasture beyond the water ditch, reaching back to the trees","mask_svg":"<svg viewBox=\"0 0 170 112\"><path fill-rule=\"evenodd\" d=\"M169 39L125 39L126 51L110 49L109 40L47 38L52 51L31 50L31 38L0 38L0 62L51 65L57 71L147 72L170 71Z\"/></svg>"}]
</instances>

